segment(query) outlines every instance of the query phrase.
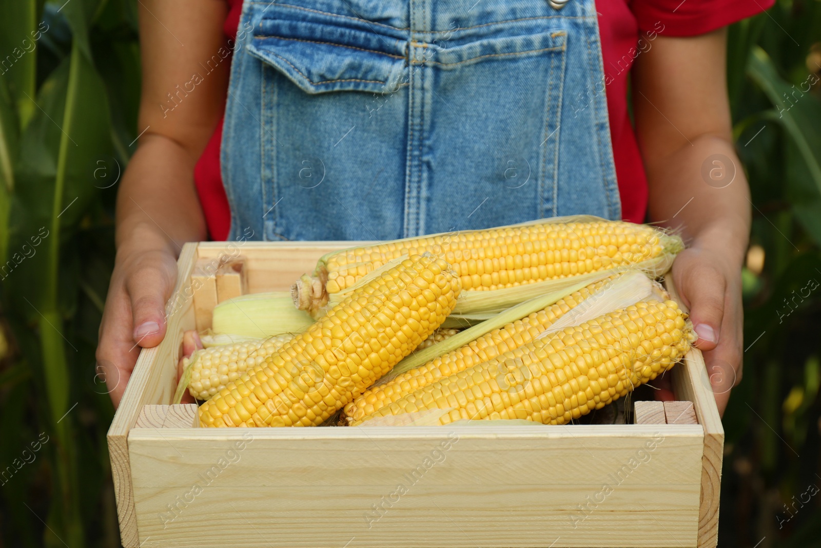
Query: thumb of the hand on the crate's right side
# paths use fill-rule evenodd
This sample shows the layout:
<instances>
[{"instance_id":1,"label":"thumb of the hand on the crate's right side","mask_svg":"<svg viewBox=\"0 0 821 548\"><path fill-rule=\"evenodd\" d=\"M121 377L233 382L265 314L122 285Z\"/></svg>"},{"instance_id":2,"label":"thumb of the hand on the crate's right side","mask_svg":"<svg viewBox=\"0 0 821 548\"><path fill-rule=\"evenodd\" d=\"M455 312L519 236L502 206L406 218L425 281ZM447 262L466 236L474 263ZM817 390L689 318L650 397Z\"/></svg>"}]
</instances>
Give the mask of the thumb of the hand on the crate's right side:
<instances>
[{"instance_id":1,"label":"thumb of the hand on the crate's right side","mask_svg":"<svg viewBox=\"0 0 821 548\"><path fill-rule=\"evenodd\" d=\"M690 321L700 350L713 350L721 337L727 280L712 265L690 265L679 273L679 291L690 302Z\"/></svg>"}]
</instances>

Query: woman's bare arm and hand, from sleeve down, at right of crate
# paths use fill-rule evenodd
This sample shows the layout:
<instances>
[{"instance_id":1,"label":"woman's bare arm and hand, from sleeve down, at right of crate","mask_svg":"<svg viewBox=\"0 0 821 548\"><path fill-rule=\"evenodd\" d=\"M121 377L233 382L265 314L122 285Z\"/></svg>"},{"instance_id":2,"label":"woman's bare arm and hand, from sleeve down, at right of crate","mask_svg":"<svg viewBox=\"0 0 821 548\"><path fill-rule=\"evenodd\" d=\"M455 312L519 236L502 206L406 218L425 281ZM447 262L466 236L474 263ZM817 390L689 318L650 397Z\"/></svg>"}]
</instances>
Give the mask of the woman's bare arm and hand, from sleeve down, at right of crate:
<instances>
[{"instance_id":1,"label":"woman's bare arm and hand, from sleeve down, at right of crate","mask_svg":"<svg viewBox=\"0 0 821 548\"><path fill-rule=\"evenodd\" d=\"M687 244L673 280L690 308L719 412L741 380L741 265L750 234L750 190L732 144L726 50L724 29L658 36L632 72L650 218Z\"/></svg>"}]
</instances>

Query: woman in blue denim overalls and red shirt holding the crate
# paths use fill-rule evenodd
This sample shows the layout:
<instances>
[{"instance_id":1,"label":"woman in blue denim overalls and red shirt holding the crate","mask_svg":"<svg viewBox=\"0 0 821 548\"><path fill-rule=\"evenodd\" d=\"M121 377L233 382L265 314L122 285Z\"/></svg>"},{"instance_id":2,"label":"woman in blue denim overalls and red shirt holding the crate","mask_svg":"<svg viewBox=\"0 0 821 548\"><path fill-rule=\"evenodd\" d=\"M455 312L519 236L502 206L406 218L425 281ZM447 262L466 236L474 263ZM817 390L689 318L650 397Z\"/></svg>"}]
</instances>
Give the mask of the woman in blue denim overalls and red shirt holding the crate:
<instances>
[{"instance_id":1,"label":"woman in blue denim overalls and red shirt holding the crate","mask_svg":"<svg viewBox=\"0 0 821 548\"><path fill-rule=\"evenodd\" d=\"M142 133L97 352L114 403L165 334L182 242L585 213L681 229L674 279L723 411L750 228L724 27L772 3L140 2Z\"/></svg>"}]
</instances>

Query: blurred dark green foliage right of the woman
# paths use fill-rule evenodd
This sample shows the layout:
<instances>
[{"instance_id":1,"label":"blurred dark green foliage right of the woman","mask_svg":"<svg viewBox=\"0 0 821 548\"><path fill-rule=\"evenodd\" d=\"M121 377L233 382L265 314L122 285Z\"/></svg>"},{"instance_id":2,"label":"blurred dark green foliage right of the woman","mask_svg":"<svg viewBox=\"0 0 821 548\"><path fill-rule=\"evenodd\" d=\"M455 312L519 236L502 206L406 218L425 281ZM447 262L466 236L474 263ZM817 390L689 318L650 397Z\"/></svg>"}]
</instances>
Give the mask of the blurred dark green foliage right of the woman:
<instances>
[{"instance_id":1,"label":"blurred dark green foliage right of the woman","mask_svg":"<svg viewBox=\"0 0 821 548\"><path fill-rule=\"evenodd\" d=\"M744 272L744 382L724 416L718 546L821 546L818 497L807 495L821 486L819 42L817 0L780 0L729 35L729 93L755 251ZM754 256L762 253L760 269Z\"/></svg>"}]
</instances>

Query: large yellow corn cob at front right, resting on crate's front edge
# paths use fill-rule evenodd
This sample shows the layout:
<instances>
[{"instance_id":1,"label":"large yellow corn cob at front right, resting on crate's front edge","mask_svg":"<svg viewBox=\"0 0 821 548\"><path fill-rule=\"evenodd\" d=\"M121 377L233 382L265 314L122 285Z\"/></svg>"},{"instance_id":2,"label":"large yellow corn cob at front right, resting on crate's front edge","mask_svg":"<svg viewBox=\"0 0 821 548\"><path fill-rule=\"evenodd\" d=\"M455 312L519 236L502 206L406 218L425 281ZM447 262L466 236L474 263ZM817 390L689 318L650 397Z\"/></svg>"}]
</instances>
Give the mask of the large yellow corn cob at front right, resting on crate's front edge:
<instances>
[{"instance_id":1,"label":"large yellow corn cob at front right, resting on crate's front edge","mask_svg":"<svg viewBox=\"0 0 821 548\"><path fill-rule=\"evenodd\" d=\"M440 424L515 418L564 424L653 380L687 352L692 338L676 302L638 302L417 389L353 425L432 409L443 410Z\"/></svg>"}]
</instances>

